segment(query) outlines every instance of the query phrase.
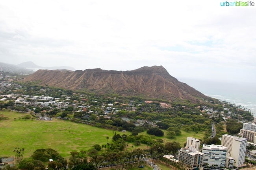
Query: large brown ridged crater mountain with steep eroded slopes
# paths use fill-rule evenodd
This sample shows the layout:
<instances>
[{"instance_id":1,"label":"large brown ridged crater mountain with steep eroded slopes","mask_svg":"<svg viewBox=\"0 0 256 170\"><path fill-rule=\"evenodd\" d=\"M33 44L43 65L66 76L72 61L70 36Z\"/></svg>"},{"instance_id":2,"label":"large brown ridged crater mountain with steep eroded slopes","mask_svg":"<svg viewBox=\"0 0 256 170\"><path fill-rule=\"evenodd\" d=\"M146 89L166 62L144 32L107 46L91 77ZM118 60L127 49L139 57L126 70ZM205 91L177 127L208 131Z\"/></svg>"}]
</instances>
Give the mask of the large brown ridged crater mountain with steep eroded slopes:
<instances>
[{"instance_id":1,"label":"large brown ridged crater mountain with steep eroded slopes","mask_svg":"<svg viewBox=\"0 0 256 170\"><path fill-rule=\"evenodd\" d=\"M132 71L97 69L38 70L24 81L41 81L41 85L55 86L70 90L87 90L95 93L118 93L132 96L189 100L200 102L207 97L169 75L163 66L142 67Z\"/></svg>"}]
</instances>

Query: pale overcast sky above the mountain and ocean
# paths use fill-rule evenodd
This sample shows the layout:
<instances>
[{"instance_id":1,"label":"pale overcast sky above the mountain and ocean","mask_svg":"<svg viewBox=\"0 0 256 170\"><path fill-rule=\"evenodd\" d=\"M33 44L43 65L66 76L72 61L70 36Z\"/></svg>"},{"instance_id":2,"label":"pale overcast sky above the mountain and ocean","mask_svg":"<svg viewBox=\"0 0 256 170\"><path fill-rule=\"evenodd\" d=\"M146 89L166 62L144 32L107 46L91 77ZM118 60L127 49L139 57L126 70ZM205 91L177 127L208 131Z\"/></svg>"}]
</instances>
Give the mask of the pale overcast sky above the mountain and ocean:
<instances>
[{"instance_id":1,"label":"pale overcast sky above the mountain and ocean","mask_svg":"<svg viewBox=\"0 0 256 170\"><path fill-rule=\"evenodd\" d=\"M256 82L256 6L221 2L2 0L0 62Z\"/></svg>"}]
</instances>

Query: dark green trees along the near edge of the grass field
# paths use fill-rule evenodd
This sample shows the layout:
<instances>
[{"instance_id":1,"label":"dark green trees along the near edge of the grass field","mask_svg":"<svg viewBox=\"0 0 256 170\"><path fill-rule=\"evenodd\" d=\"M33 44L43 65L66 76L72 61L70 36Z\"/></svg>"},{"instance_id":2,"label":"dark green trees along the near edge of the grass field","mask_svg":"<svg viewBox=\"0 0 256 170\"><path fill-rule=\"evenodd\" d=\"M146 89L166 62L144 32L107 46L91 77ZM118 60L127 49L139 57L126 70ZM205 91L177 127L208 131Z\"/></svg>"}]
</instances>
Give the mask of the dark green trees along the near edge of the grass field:
<instances>
[{"instance_id":1,"label":"dark green trees along the near edge of the grass field","mask_svg":"<svg viewBox=\"0 0 256 170\"><path fill-rule=\"evenodd\" d=\"M115 133L112 138L113 143L108 143L109 138L107 138L106 146L95 144L92 149L87 151L70 152L69 162L63 159L56 150L51 148L37 149L30 158L20 161L19 168L24 170L45 170L45 163L47 163L49 170L66 168L70 170L96 170L98 167L114 165L118 168L131 168L132 166L141 165L141 161L144 161L143 158L148 155L158 159L164 154L176 154L180 148L179 143L168 142L163 144L163 140L158 140L152 141L150 148L147 150L136 149L134 146L132 146L134 149L127 150L128 144L125 140L128 140L129 137L134 136ZM143 135L141 138L146 139L147 137ZM53 161L49 161L49 159L53 159ZM17 170L17 168L4 170Z\"/></svg>"}]
</instances>

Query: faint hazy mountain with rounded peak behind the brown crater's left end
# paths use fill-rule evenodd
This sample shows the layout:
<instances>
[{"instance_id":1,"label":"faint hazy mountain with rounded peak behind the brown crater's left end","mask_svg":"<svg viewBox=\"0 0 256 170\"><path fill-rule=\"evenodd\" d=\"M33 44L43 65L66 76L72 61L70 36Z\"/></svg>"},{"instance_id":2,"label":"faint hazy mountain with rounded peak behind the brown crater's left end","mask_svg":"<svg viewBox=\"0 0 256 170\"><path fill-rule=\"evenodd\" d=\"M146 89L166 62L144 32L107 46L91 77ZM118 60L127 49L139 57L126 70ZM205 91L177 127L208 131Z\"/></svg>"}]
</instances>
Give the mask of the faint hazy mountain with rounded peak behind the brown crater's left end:
<instances>
[{"instance_id":1,"label":"faint hazy mountain with rounded peak behind the brown crater's left end","mask_svg":"<svg viewBox=\"0 0 256 170\"><path fill-rule=\"evenodd\" d=\"M75 70L74 68L68 67L68 66L42 67L42 66L36 65L32 61L22 62L22 63L18 64L17 66L22 67L22 68L26 68L26 69L33 69L35 71L37 71L38 69L68 69L68 70Z\"/></svg>"}]
</instances>

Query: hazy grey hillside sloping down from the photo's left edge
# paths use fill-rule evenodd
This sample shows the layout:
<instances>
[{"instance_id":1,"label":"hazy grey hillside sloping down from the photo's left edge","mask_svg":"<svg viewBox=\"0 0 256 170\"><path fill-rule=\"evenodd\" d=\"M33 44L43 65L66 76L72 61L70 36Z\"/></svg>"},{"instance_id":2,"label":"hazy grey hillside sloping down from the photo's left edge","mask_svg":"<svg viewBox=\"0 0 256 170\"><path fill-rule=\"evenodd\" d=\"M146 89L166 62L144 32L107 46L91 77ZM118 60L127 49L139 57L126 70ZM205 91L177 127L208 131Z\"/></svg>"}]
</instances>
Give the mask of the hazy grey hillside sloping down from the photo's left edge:
<instances>
[{"instance_id":1,"label":"hazy grey hillside sloping down from the photo's left edge","mask_svg":"<svg viewBox=\"0 0 256 170\"><path fill-rule=\"evenodd\" d=\"M29 70L26 68L19 67L14 64L7 64L4 62L0 62L0 71L9 72L9 73L19 73L19 74L32 74L33 70Z\"/></svg>"}]
</instances>

